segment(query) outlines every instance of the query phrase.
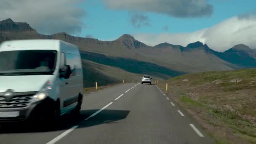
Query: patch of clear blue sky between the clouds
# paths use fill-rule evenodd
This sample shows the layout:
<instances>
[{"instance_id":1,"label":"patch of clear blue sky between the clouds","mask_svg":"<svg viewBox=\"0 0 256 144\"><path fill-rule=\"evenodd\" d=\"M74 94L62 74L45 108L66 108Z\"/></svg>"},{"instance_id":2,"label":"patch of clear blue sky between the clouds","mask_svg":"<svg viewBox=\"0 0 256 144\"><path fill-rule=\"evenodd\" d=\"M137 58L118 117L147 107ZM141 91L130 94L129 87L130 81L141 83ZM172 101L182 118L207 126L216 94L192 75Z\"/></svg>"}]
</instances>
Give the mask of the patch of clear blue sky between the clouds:
<instances>
[{"instance_id":1,"label":"patch of clear blue sky between the clouds","mask_svg":"<svg viewBox=\"0 0 256 144\"><path fill-rule=\"evenodd\" d=\"M101 0L87 0L80 5L86 11L83 18L86 27L78 36L92 35L100 40L113 40L124 33L182 33L194 32L212 27L225 19L256 10L256 0L209 0L214 12L208 17L177 18L160 13L145 13L129 10L113 10L104 5ZM139 13L149 17L151 26L133 27L131 16ZM167 25L168 30L162 28Z\"/></svg>"}]
</instances>

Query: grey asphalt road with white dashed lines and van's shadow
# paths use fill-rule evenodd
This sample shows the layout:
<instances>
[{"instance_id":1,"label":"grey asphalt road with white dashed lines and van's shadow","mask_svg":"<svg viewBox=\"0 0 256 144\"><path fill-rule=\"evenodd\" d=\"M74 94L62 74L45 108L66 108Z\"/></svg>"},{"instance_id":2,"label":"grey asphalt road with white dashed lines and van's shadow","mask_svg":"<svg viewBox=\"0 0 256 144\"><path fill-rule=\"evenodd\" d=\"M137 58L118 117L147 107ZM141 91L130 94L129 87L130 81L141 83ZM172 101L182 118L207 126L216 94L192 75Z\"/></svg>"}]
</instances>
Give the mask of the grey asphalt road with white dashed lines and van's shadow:
<instances>
[{"instance_id":1,"label":"grey asphalt road with white dashed lines and van's shadow","mask_svg":"<svg viewBox=\"0 0 256 144\"><path fill-rule=\"evenodd\" d=\"M84 96L80 117L62 117L58 131L0 127L0 144L215 143L156 85L135 85Z\"/></svg>"}]
</instances>

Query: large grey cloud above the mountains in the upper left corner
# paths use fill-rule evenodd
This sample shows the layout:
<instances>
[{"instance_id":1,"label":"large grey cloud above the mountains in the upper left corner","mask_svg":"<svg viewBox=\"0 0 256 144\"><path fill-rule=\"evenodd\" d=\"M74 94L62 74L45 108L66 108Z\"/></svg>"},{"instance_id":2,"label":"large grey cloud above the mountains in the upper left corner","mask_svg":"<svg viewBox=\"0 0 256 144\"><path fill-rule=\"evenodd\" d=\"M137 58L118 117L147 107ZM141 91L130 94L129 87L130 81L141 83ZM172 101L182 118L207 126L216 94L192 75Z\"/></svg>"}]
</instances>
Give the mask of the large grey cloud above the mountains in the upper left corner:
<instances>
[{"instance_id":1,"label":"large grey cloud above the mountains in the upper left corner","mask_svg":"<svg viewBox=\"0 0 256 144\"><path fill-rule=\"evenodd\" d=\"M85 27L81 18L86 15L77 7L84 0L1 0L0 20L11 18L27 22L42 34L67 32L79 34Z\"/></svg>"}]
</instances>

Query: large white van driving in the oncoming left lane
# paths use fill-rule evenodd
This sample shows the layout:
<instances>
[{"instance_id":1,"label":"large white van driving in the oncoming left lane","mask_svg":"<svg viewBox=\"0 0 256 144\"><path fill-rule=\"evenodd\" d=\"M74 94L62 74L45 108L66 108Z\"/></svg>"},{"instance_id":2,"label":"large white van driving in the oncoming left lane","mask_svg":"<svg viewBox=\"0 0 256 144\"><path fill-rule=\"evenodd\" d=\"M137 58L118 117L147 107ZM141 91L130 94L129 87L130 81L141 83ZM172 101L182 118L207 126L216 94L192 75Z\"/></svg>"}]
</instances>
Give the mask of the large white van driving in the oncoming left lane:
<instances>
[{"instance_id":1,"label":"large white van driving in the oncoming left lane","mask_svg":"<svg viewBox=\"0 0 256 144\"><path fill-rule=\"evenodd\" d=\"M77 46L61 40L13 40L0 45L0 125L52 123L79 114L83 71Z\"/></svg>"}]
</instances>

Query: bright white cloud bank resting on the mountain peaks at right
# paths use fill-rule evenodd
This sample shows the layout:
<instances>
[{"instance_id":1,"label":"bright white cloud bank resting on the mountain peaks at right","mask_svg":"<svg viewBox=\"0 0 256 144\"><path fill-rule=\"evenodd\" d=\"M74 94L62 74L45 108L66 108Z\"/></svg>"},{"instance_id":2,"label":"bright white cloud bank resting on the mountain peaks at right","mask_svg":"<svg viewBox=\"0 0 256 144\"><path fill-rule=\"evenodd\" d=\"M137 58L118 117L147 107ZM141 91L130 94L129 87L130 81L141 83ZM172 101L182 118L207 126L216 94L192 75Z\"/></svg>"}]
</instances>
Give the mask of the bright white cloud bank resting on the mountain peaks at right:
<instances>
[{"instance_id":1,"label":"bright white cloud bank resting on the mountain peaks at right","mask_svg":"<svg viewBox=\"0 0 256 144\"><path fill-rule=\"evenodd\" d=\"M171 43L187 46L188 43L201 41L215 51L226 51L234 45L243 43L256 48L256 15L246 15L245 18L235 16L213 27L191 33L162 33L162 34L134 34L137 40L148 45Z\"/></svg>"}]
</instances>

